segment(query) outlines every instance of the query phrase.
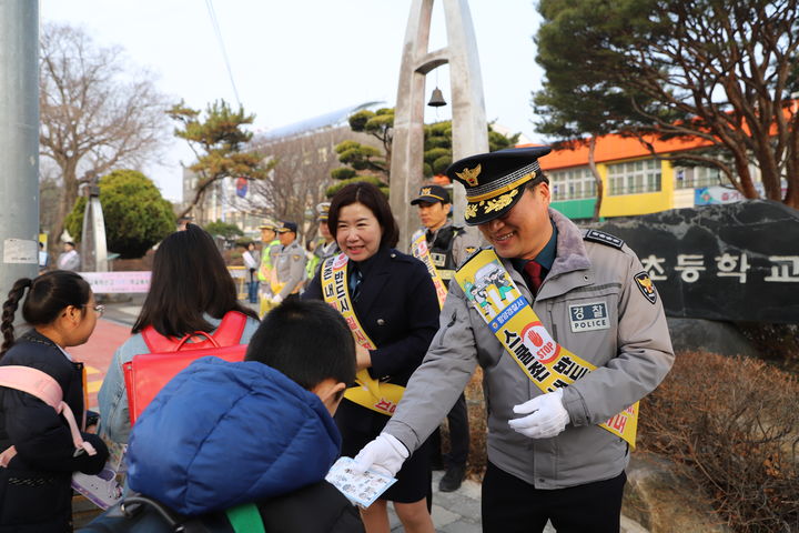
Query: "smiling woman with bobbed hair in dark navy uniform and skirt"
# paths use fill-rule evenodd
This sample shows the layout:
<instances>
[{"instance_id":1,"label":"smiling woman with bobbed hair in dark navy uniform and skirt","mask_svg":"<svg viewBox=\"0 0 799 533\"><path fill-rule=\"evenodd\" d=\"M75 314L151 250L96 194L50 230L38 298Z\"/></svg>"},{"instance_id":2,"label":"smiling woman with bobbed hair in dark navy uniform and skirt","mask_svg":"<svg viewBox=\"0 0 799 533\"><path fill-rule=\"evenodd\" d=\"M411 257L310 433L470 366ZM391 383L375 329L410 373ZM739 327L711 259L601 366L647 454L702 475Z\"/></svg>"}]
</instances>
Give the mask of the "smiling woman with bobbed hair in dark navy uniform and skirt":
<instances>
[{"instance_id":1,"label":"smiling woman with bobbed hair in dark navy uniform and skirt","mask_svg":"<svg viewBox=\"0 0 799 533\"><path fill-rule=\"evenodd\" d=\"M331 201L327 225L347 259L355 315L377 346L358 346L358 370L404 386L438 329L438 301L427 269L393 248L400 231L385 195L372 184L353 183L338 191ZM311 281L303 298L323 299L321 274ZM344 439L342 454L352 457L381 433L388 416L345 399L335 420ZM386 502L393 501L405 531L433 532L426 503L431 484L426 445L404 463L397 480L381 500L362 511L366 531L388 532Z\"/></svg>"}]
</instances>

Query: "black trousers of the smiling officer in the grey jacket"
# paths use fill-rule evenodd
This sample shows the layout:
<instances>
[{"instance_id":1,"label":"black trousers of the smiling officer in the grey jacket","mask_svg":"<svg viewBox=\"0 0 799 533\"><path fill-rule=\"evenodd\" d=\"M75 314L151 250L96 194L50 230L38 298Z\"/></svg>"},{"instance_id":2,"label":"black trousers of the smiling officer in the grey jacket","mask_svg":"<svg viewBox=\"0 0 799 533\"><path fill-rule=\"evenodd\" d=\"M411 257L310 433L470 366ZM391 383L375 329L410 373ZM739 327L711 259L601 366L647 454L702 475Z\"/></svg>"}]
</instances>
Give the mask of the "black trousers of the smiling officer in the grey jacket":
<instances>
[{"instance_id":1,"label":"black trousers of the smiling officer in the grey jacket","mask_svg":"<svg viewBox=\"0 0 799 533\"><path fill-rule=\"evenodd\" d=\"M538 533L547 520L558 533L618 533L627 476L543 490L492 463L483 479L484 533Z\"/></svg>"}]
</instances>

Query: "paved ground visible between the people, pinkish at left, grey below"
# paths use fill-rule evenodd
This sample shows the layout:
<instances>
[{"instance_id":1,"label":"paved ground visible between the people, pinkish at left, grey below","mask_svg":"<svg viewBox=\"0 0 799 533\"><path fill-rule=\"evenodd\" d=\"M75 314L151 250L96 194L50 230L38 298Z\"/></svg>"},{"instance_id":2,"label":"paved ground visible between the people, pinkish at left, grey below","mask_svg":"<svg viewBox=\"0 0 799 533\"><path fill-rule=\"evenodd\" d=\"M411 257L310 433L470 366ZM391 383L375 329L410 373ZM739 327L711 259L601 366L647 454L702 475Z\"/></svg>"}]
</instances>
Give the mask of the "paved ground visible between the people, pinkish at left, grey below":
<instances>
[{"instance_id":1,"label":"paved ground visible between the people, pinkish at left, grey below","mask_svg":"<svg viewBox=\"0 0 799 533\"><path fill-rule=\"evenodd\" d=\"M142 295L132 302L107 303L105 313L98 321L94 333L82 346L70 348L69 352L78 361L87 364L90 402L97 409L97 391L117 348L129 336L130 330L141 310ZM433 524L441 533L479 533L481 525L481 485L474 481L464 481L455 492L439 492L438 481L443 472L433 472ZM402 532L403 526L390 505L390 520L393 532ZM647 533L638 523L621 517L621 533ZM555 533L547 525L545 533Z\"/></svg>"}]
</instances>

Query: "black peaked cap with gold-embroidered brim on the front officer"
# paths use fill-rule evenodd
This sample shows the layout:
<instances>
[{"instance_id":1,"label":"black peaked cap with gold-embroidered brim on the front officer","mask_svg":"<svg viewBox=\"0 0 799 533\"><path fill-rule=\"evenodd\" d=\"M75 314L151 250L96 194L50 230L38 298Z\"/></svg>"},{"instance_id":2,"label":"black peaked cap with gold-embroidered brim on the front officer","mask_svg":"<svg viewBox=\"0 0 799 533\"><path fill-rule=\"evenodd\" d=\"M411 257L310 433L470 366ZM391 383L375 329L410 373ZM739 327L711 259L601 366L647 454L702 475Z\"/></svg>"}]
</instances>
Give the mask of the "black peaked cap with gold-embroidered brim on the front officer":
<instances>
[{"instance_id":1,"label":"black peaked cap with gold-embroidered brim on the front officer","mask_svg":"<svg viewBox=\"0 0 799 533\"><path fill-rule=\"evenodd\" d=\"M483 224L507 213L528 182L540 183L546 179L538 158L550 151L549 147L512 148L451 164L446 174L466 188L466 223Z\"/></svg>"}]
</instances>

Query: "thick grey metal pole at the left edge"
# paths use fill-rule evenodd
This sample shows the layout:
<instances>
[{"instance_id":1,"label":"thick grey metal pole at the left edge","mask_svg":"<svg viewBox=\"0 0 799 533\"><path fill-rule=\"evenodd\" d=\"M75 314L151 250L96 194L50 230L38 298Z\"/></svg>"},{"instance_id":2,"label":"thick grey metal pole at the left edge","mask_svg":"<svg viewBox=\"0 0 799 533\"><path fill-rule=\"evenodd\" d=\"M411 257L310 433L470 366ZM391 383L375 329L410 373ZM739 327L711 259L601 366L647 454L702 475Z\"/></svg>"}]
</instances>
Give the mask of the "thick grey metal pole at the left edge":
<instances>
[{"instance_id":1,"label":"thick grey metal pole at the left edge","mask_svg":"<svg viewBox=\"0 0 799 533\"><path fill-rule=\"evenodd\" d=\"M39 263L39 2L0 0L0 301Z\"/></svg>"}]
</instances>

